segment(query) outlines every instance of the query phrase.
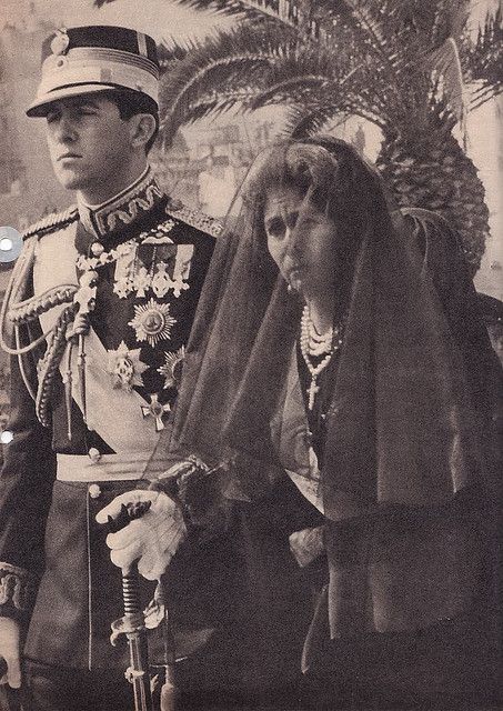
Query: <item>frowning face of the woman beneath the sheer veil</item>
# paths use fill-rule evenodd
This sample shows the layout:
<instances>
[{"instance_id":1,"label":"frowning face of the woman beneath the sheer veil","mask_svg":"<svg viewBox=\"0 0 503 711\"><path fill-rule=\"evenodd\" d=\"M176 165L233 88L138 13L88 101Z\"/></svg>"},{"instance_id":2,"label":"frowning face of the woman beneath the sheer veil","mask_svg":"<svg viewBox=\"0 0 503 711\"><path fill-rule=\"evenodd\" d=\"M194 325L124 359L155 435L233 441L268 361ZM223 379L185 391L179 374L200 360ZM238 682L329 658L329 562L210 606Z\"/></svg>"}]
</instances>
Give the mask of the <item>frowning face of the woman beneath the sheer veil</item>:
<instances>
[{"instance_id":1,"label":"frowning face of the woman beneath the sheer veil","mask_svg":"<svg viewBox=\"0 0 503 711\"><path fill-rule=\"evenodd\" d=\"M294 187L272 188L265 201L268 249L289 284L306 298L332 296L336 274L334 222Z\"/></svg>"}]
</instances>

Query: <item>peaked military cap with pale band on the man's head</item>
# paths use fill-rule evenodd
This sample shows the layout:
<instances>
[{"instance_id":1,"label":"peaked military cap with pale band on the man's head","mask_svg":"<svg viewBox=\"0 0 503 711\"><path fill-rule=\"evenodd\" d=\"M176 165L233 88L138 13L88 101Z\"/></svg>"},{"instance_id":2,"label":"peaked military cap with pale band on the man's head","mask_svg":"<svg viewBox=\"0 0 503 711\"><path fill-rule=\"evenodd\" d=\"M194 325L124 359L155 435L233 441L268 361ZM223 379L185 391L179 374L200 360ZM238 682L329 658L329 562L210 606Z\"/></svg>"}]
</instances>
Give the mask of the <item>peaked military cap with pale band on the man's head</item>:
<instances>
[{"instance_id":1,"label":"peaked military cap with pale band on the man's head","mask_svg":"<svg viewBox=\"0 0 503 711\"><path fill-rule=\"evenodd\" d=\"M159 60L154 40L124 27L57 30L42 44L42 78L29 117L46 116L58 99L127 89L159 103Z\"/></svg>"}]
</instances>

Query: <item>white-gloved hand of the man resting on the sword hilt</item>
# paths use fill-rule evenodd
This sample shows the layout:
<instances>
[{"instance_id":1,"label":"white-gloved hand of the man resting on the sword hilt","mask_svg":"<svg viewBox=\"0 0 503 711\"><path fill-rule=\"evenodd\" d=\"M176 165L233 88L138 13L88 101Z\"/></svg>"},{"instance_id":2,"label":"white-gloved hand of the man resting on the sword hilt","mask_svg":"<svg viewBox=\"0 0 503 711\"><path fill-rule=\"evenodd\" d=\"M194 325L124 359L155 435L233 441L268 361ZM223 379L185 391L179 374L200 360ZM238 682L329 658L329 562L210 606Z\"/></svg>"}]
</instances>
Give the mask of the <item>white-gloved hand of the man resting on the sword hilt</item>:
<instances>
[{"instance_id":1,"label":"white-gloved hand of the man resting on the sword hilt","mask_svg":"<svg viewBox=\"0 0 503 711\"><path fill-rule=\"evenodd\" d=\"M98 523L117 518L121 505L150 501L150 509L139 519L133 519L117 533L109 533L107 545L111 549L112 563L128 572L138 560L138 572L147 580L159 580L170 564L187 528L180 507L161 491L135 489L115 497L97 514Z\"/></svg>"}]
</instances>

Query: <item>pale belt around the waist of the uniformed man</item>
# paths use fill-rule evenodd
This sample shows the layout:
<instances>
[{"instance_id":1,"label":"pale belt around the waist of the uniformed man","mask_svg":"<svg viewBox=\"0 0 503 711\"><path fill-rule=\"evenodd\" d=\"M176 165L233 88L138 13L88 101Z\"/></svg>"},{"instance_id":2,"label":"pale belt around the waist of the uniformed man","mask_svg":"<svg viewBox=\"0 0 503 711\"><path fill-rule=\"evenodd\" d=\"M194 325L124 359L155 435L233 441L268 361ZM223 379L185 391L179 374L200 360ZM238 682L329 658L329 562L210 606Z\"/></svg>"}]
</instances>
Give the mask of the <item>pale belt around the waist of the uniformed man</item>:
<instances>
[{"instance_id":1,"label":"pale belt around the waist of the uniformed man","mask_svg":"<svg viewBox=\"0 0 503 711\"><path fill-rule=\"evenodd\" d=\"M169 469L173 462L154 458L151 453L129 452L122 454L101 454L91 459L87 454L57 454L57 475L59 481L133 481L143 477L149 464L151 474Z\"/></svg>"}]
</instances>

